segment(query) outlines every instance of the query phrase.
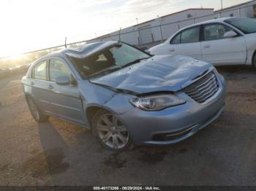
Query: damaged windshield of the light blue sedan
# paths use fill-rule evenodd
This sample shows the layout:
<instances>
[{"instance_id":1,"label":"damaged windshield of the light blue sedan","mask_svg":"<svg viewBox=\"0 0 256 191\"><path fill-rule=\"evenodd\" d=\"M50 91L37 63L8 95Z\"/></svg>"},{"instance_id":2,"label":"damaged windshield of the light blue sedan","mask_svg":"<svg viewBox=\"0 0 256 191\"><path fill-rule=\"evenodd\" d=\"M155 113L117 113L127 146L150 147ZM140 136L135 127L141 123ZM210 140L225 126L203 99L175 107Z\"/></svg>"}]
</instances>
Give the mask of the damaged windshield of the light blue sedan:
<instances>
[{"instance_id":1,"label":"damaged windshield of the light blue sedan","mask_svg":"<svg viewBox=\"0 0 256 191\"><path fill-rule=\"evenodd\" d=\"M135 47L117 43L87 58L72 58L72 60L82 77L95 77L109 74L149 57L146 52Z\"/></svg>"}]
</instances>

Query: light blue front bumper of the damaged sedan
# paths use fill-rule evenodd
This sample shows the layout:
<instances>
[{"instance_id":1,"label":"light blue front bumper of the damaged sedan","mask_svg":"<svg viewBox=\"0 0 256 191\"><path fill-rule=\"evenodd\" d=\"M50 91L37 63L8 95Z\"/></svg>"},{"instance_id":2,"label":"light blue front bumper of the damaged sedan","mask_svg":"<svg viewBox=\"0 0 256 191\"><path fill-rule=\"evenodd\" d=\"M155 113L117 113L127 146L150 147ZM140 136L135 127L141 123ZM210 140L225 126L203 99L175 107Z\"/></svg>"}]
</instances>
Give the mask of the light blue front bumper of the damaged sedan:
<instances>
[{"instance_id":1,"label":"light blue front bumper of the damaged sedan","mask_svg":"<svg viewBox=\"0 0 256 191\"><path fill-rule=\"evenodd\" d=\"M219 76L218 81L219 90L207 104L198 104L186 93L180 93L178 96L184 98L186 104L156 112L133 108L119 115L120 120L126 125L136 145L175 144L189 138L219 117L225 105L226 87L223 77Z\"/></svg>"}]
</instances>

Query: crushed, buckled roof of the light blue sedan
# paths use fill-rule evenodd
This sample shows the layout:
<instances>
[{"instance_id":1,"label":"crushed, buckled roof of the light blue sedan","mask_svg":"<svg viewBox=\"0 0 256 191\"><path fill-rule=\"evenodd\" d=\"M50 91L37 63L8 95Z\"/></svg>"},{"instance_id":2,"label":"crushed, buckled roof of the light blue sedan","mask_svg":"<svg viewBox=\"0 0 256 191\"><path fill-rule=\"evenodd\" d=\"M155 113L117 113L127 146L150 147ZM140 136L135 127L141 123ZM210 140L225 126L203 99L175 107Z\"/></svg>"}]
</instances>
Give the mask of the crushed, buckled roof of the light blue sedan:
<instances>
[{"instance_id":1,"label":"crushed, buckled roof of the light blue sedan","mask_svg":"<svg viewBox=\"0 0 256 191\"><path fill-rule=\"evenodd\" d=\"M54 56L68 55L73 58L86 58L89 55L94 54L95 52L99 52L100 50L105 49L113 44L118 43L117 41L106 41L106 42L94 42L85 44L80 47L70 47L67 49L59 50L57 52L50 53L48 55L43 56L43 58L49 58Z\"/></svg>"}]
</instances>

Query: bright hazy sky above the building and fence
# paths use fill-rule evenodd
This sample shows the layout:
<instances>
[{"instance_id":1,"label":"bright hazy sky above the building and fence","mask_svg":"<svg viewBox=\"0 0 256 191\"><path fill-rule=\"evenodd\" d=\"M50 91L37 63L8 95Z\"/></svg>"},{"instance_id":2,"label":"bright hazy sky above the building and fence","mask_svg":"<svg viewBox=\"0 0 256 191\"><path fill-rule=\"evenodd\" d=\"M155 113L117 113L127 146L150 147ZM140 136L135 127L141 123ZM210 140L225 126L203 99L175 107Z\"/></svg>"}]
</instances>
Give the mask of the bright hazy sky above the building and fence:
<instances>
[{"instance_id":1,"label":"bright hazy sky above the building and fence","mask_svg":"<svg viewBox=\"0 0 256 191\"><path fill-rule=\"evenodd\" d=\"M248 0L222 0L230 7ZM0 0L0 57L91 39L220 0Z\"/></svg>"}]
</instances>

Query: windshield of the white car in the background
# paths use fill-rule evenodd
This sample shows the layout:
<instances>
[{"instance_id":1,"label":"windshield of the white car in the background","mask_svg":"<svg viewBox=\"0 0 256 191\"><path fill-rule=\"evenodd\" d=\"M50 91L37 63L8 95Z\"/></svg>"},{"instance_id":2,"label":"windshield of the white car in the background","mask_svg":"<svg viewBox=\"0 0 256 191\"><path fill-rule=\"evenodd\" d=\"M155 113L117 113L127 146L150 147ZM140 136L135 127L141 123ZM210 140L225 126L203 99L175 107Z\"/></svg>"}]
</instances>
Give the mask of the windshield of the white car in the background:
<instances>
[{"instance_id":1,"label":"windshield of the white car in the background","mask_svg":"<svg viewBox=\"0 0 256 191\"><path fill-rule=\"evenodd\" d=\"M225 20L232 26L235 26L244 34L256 33L256 20L246 17L235 17Z\"/></svg>"}]
</instances>

